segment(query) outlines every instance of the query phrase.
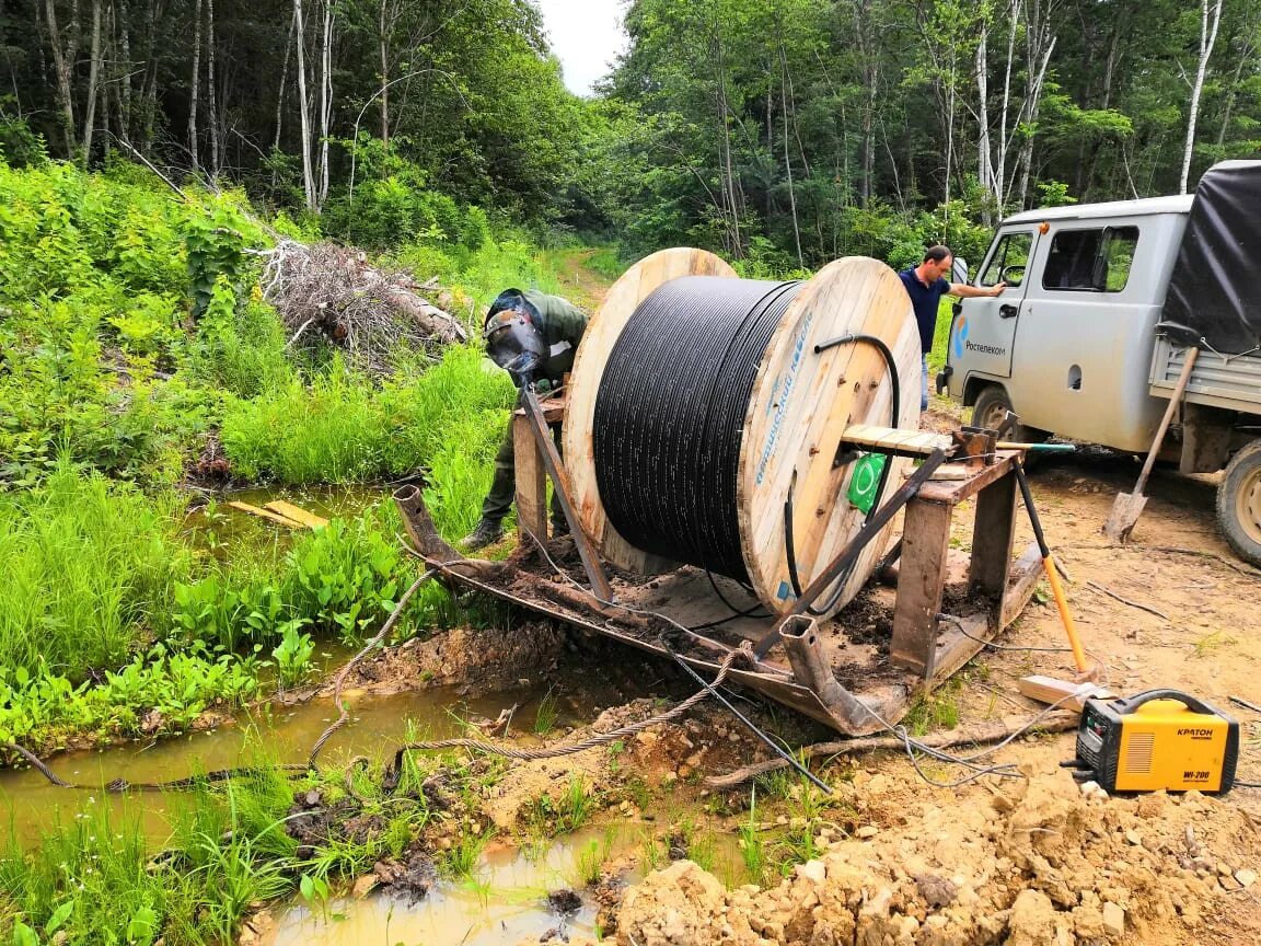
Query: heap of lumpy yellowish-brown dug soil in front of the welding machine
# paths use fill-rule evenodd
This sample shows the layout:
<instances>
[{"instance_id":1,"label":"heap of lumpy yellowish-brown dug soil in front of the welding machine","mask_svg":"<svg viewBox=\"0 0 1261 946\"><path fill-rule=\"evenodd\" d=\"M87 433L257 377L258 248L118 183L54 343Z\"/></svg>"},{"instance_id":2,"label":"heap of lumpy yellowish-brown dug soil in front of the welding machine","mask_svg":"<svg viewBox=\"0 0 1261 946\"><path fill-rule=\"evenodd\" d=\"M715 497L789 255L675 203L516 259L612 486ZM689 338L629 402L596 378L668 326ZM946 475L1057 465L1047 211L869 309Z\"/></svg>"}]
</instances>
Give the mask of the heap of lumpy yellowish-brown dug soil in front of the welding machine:
<instances>
[{"instance_id":1,"label":"heap of lumpy yellowish-brown dug soil in front of the welding machine","mask_svg":"<svg viewBox=\"0 0 1261 946\"><path fill-rule=\"evenodd\" d=\"M903 814L905 827L834 843L773 889L728 891L677 861L625 894L603 942L1096 946L1261 932L1261 838L1228 801L1086 798L1067 778L1039 777L989 805Z\"/></svg>"}]
</instances>

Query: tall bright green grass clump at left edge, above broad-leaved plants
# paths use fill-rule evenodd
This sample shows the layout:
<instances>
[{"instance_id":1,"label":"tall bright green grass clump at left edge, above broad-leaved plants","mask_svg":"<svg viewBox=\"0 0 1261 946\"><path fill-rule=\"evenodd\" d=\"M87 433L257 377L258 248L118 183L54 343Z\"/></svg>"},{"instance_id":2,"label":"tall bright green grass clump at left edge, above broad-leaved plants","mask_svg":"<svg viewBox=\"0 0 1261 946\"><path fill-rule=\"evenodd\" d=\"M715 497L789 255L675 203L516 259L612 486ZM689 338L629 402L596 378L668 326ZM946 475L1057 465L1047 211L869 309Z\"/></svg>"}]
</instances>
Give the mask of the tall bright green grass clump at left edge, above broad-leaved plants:
<instances>
[{"instance_id":1,"label":"tall bright green grass clump at left edge, above broad-leaved plants","mask_svg":"<svg viewBox=\"0 0 1261 946\"><path fill-rule=\"evenodd\" d=\"M79 677L124 663L188 575L177 508L68 465L0 494L0 666Z\"/></svg>"}]
</instances>

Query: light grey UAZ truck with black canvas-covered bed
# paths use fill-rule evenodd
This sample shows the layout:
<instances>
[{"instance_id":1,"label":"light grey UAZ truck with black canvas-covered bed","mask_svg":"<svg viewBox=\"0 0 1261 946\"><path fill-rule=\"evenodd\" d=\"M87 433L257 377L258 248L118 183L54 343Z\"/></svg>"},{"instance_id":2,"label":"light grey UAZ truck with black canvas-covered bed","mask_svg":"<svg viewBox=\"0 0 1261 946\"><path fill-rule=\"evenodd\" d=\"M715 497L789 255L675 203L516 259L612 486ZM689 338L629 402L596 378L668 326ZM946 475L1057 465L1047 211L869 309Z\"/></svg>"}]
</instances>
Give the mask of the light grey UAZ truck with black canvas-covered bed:
<instances>
[{"instance_id":1,"label":"light grey UAZ truck with black canvas-covered bed","mask_svg":"<svg viewBox=\"0 0 1261 946\"><path fill-rule=\"evenodd\" d=\"M995 298L955 307L937 390L995 426L1145 453L1199 349L1164 453L1226 469L1217 518L1261 564L1261 161L1224 161L1195 194L1009 217L981 264Z\"/></svg>"}]
</instances>

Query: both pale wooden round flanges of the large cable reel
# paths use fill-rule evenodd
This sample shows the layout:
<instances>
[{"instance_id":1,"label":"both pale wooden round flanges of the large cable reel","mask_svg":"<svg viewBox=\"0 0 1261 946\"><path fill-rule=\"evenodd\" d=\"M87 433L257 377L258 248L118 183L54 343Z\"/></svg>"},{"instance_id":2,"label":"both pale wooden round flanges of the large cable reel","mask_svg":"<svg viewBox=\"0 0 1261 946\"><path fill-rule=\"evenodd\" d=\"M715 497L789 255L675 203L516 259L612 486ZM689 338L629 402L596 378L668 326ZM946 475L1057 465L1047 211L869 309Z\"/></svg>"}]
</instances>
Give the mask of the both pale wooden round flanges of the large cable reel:
<instances>
[{"instance_id":1,"label":"both pale wooden round flanges of the large cable reel","mask_svg":"<svg viewBox=\"0 0 1261 946\"><path fill-rule=\"evenodd\" d=\"M613 285L579 346L565 420L565 465L584 530L613 565L660 574L678 563L628 542L600 497L595 468L595 415L610 352L637 309L663 284L682 276L738 279L718 256L672 248L648 256ZM892 349L902 380L897 424L890 416L893 380L878 347L845 336L874 336ZM735 515L747 579L776 613L794 600L786 550L784 505L793 499L793 545L802 588L857 534L866 518L846 498L857 464L836 464L846 428L856 424L914 430L919 419L919 334L897 274L866 257L836 260L803 284L762 356L740 431ZM884 496L900 486L909 460L892 464ZM888 528L868 544L832 610L870 578ZM701 563L694 563L700 565Z\"/></svg>"}]
</instances>

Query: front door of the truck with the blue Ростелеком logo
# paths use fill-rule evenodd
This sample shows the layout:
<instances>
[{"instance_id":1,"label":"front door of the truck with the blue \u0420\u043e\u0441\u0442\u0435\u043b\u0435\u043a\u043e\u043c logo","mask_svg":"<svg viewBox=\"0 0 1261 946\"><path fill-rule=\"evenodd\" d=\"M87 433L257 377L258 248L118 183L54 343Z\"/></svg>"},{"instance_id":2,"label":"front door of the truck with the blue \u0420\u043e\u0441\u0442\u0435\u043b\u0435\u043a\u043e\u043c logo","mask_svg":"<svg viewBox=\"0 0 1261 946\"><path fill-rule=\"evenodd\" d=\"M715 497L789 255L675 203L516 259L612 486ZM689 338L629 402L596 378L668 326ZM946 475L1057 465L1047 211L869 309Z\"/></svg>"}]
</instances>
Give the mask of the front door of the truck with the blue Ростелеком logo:
<instances>
[{"instance_id":1,"label":"front door of the truck with the blue \u0420\u043e\u0441\u0442\u0435\u043b\u0435\u043a\u043e\u043c logo","mask_svg":"<svg viewBox=\"0 0 1261 946\"><path fill-rule=\"evenodd\" d=\"M1025 296L1025 269L1033 259L1038 231L1009 230L999 235L985 257L975 285L1006 283L1002 295L966 299L951 327L947 358L952 366L952 392L968 376L1011 377L1011 349ZM961 392L961 387L958 392Z\"/></svg>"}]
</instances>

